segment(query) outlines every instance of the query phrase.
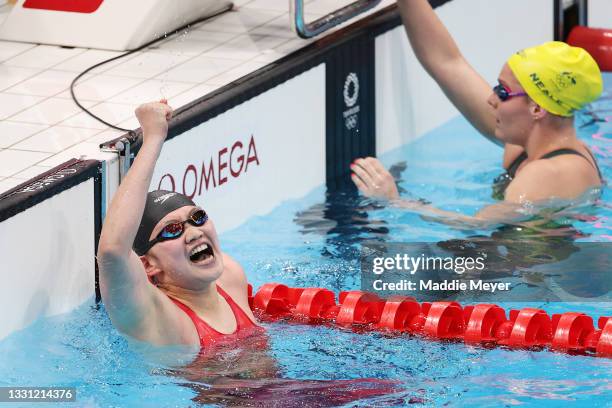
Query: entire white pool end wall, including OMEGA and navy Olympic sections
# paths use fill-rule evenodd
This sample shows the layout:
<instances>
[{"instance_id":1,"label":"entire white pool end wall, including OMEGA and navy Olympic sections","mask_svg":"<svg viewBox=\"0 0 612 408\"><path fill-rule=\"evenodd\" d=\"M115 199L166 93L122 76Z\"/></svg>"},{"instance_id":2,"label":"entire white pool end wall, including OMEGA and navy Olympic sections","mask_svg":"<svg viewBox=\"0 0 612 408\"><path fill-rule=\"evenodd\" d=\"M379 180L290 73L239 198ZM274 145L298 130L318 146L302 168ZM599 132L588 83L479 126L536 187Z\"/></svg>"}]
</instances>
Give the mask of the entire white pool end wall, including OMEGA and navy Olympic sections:
<instances>
[{"instance_id":1,"label":"entire white pool end wall, including OMEGA and navy Olympic sections","mask_svg":"<svg viewBox=\"0 0 612 408\"><path fill-rule=\"evenodd\" d=\"M512 52L553 36L552 2L432 4L491 82ZM323 185L350 185L354 158L405 144L456 115L418 66L393 5L178 108L151 188L193 196L224 232ZM138 139L125 135L101 148L116 154L87 162L84 179L47 174L0 198L7 282L0 308L11 311L0 318L0 338L94 297L100 220Z\"/></svg>"}]
</instances>

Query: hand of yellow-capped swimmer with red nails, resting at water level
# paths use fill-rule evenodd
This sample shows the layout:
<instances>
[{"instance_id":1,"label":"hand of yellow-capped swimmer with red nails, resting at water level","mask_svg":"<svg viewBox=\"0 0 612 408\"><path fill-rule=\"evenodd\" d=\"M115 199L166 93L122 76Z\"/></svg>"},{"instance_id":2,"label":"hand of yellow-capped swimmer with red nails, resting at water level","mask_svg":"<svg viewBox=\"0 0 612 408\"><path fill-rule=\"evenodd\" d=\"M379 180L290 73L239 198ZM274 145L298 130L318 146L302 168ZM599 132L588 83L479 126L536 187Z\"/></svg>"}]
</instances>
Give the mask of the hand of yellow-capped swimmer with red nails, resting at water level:
<instances>
[{"instance_id":1,"label":"hand of yellow-capped swimmer with red nails, resting at water level","mask_svg":"<svg viewBox=\"0 0 612 408\"><path fill-rule=\"evenodd\" d=\"M395 179L382 163L374 157L357 159L351 164L351 179L366 197L395 200L399 192Z\"/></svg>"}]
</instances>

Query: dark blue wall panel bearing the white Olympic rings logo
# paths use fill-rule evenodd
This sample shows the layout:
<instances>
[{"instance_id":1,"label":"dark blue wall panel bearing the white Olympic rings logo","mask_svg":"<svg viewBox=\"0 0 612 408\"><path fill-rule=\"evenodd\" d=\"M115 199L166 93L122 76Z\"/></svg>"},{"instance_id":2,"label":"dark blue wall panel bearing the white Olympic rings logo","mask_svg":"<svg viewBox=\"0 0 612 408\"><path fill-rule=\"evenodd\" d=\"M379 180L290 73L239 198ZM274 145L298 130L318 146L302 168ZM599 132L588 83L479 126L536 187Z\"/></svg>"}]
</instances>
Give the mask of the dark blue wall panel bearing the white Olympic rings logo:
<instances>
[{"instance_id":1,"label":"dark blue wall panel bearing the white Olympic rings logo","mask_svg":"<svg viewBox=\"0 0 612 408\"><path fill-rule=\"evenodd\" d=\"M354 188L350 164L376 155L374 37L344 44L326 68L326 182L329 191Z\"/></svg>"}]
</instances>

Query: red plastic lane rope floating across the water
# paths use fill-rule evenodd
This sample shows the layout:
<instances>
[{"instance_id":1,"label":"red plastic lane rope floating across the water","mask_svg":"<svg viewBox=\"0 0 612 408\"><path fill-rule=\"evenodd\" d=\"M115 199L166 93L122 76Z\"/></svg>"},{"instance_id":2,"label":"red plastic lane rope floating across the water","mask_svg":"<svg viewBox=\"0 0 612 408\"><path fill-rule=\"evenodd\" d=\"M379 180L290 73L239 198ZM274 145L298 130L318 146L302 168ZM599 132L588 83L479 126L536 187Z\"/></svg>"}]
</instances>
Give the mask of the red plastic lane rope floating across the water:
<instances>
[{"instance_id":1,"label":"red plastic lane rope floating across the water","mask_svg":"<svg viewBox=\"0 0 612 408\"><path fill-rule=\"evenodd\" d=\"M358 290L340 292L338 300L336 303L329 289L291 288L279 283L266 283L253 296L249 285L249 305L264 320L335 324L468 344L549 348L612 358L612 316L601 317L595 329L593 318L577 312L549 316L544 310L528 307L506 314L495 304L418 303L406 296L384 300Z\"/></svg>"}]
</instances>

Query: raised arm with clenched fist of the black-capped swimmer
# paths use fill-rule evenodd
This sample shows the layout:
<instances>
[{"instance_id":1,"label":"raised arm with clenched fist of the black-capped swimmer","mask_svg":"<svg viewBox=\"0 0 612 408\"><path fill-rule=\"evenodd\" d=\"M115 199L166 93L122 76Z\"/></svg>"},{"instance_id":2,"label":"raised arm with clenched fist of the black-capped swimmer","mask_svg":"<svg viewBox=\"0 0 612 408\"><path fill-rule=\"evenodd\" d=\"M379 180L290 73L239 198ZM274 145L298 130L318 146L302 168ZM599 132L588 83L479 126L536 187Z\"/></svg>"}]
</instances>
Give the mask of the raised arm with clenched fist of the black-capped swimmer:
<instances>
[{"instance_id":1,"label":"raised arm with clenched fist of the black-capped swimmer","mask_svg":"<svg viewBox=\"0 0 612 408\"><path fill-rule=\"evenodd\" d=\"M148 282L140 258L132 250L153 169L167 134L171 109L165 104L146 104L136 115L143 129L143 145L134 164L119 185L107 212L100 243L98 265L105 307L117 327L130 331L150 327L154 318L155 288Z\"/></svg>"}]
</instances>

